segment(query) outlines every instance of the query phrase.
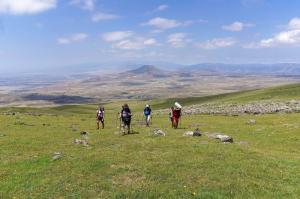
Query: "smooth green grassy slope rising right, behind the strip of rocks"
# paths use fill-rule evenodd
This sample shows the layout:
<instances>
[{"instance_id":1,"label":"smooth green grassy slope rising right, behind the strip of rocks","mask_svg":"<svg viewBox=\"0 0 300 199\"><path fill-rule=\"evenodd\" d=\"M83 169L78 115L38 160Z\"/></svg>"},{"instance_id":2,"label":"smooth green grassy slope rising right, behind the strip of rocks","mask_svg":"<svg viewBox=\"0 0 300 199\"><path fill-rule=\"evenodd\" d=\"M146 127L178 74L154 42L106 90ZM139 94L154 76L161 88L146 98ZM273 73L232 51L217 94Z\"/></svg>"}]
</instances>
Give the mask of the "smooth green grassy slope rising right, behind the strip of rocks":
<instances>
[{"instance_id":1,"label":"smooth green grassy slope rising right, behind the strip of rocks","mask_svg":"<svg viewBox=\"0 0 300 199\"><path fill-rule=\"evenodd\" d=\"M155 108L168 108L174 101L179 101L182 105L192 105L201 103L249 103L261 100L291 100L300 98L300 84L289 84L279 87L258 89L252 91L241 91L220 95L204 97L173 98L158 101Z\"/></svg>"}]
</instances>

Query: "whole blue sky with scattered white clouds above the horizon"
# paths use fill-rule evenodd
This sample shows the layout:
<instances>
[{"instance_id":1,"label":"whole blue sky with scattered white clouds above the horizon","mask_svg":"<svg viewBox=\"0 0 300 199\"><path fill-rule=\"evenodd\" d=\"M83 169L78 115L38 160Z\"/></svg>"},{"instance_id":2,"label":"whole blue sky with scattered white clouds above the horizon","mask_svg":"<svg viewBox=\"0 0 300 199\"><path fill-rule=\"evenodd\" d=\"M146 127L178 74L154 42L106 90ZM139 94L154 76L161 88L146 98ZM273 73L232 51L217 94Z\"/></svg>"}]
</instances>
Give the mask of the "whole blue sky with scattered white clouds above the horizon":
<instances>
[{"instance_id":1,"label":"whole blue sky with scattered white clouds above the horizon","mask_svg":"<svg viewBox=\"0 0 300 199\"><path fill-rule=\"evenodd\" d=\"M0 70L300 62L300 1L0 0Z\"/></svg>"}]
</instances>

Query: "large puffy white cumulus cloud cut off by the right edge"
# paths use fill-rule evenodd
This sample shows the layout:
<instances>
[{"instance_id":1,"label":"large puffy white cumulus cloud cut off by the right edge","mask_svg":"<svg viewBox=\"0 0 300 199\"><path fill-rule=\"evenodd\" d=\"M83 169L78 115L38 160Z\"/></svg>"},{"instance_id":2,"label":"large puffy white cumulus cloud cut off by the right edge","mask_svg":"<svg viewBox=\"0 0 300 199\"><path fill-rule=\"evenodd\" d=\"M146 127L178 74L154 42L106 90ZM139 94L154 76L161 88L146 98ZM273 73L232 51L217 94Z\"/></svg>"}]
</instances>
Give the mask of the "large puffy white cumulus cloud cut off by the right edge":
<instances>
[{"instance_id":1,"label":"large puffy white cumulus cloud cut off by the right edge","mask_svg":"<svg viewBox=\"0 0 300 199\"><path fill-rule=\"evenodd\" d=\"M270 48L282 45L300 45L300 18L291 19L286 27L286 30L274 34L273 37L247 44L244 47Z\"/></svg>"}]
</instances>

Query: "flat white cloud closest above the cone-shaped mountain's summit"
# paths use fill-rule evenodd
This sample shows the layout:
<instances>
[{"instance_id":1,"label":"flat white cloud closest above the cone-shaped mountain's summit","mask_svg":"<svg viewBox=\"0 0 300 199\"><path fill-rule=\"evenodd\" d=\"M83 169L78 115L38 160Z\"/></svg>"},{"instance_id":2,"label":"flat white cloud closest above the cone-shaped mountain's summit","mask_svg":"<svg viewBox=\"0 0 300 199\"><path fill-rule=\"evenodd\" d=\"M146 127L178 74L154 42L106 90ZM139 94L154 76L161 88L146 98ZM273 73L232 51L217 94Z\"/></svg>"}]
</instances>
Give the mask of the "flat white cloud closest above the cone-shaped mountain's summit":
<instances>
[{"instance_id":1,"label":"flat white cloud closest above the cone-shaped mountain's summit","mask_svg":"<svg viewBox=\"0 0 300 199\"><path fill-rule=\"evenodd\" d=\"M118 48L122 50L140 50L147 46L153 46L156 45L157 42L153 38L133 38L133 39L127 39L122 40L118 43L113 44L113 48Z\"/></svg>"}]
</instances>

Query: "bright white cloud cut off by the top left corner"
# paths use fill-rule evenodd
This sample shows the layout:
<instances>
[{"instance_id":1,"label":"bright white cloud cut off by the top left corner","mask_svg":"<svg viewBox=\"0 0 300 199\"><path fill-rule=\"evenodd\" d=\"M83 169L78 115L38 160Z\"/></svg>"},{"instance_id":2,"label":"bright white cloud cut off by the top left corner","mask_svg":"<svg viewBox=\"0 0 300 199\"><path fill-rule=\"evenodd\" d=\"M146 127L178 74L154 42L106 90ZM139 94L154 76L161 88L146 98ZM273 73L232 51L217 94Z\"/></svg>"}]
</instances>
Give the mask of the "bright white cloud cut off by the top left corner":
<instances>
[{"instance_id":1,"label":"bright white cloud cut off by the top left corner","mask_svg":"<svg viewBox=\"0 0 300 199\"><path fill-rule=\"evenodd\" d=\"M55 8L57 0L0 0L0 13L36 14Z\"/></svg>"}]
</instances>

